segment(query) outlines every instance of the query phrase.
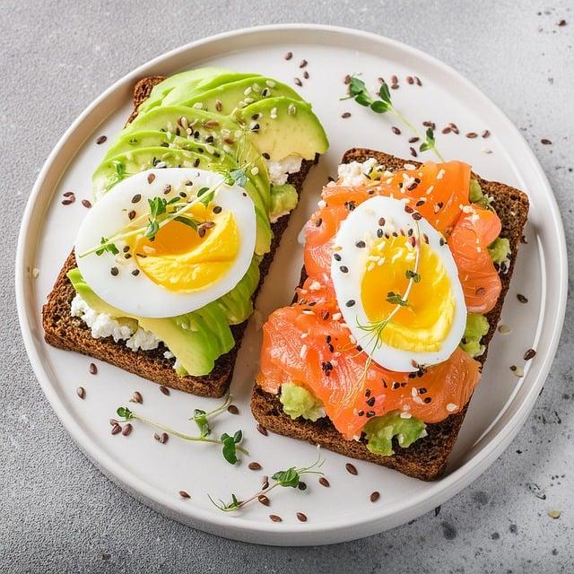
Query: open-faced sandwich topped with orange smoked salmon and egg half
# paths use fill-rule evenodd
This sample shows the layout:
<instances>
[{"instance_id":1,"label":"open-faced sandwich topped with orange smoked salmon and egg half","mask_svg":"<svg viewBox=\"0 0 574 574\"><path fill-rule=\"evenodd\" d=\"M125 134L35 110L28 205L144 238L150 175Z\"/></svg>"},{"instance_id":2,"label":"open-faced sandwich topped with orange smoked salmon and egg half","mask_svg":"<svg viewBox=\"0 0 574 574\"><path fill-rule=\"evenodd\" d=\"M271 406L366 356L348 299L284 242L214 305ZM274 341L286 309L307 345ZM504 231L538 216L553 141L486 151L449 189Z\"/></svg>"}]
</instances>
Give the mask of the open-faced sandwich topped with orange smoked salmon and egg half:
<instances>
[{"instance_id":1,"label":"open-faced sandwich topped with orange smoked salmon and egg half","mask_svg":"<svg viewBox=\"0 0 574 574\"><path fill-rule=\"evenodd\" d=\"M433 480L481 377L528 200L461 161L352 149L338 175L306 225L295 300L263 327L252 411Z\"/></svg>"}]
</instances>

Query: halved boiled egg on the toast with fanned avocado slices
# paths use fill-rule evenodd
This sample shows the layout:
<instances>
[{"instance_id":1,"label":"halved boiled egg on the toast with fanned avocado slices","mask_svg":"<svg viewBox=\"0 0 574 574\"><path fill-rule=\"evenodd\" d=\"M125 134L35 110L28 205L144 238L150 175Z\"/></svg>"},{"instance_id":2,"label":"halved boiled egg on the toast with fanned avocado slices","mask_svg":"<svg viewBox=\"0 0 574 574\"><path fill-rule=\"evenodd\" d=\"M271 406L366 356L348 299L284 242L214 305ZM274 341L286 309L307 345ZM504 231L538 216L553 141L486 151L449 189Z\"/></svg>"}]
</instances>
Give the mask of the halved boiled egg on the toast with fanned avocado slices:
<instances>
[{"instance_id":1,"label":"halved boiled egg on the toast with fanned avocado slices","mask_svg":"<svg viewBox=\"0 0 574 574\"><path fill-rule=\"evenodd\" d=\"M231 291L253 257L256 215L245 190L222 181L211 171L174 168L118 183L91 208L75 242L86 283L139 317L174 317ZM161 214L150 238L153 205ZM105 239L114 247L95 252Z\"/></svg>"}]
</instances>

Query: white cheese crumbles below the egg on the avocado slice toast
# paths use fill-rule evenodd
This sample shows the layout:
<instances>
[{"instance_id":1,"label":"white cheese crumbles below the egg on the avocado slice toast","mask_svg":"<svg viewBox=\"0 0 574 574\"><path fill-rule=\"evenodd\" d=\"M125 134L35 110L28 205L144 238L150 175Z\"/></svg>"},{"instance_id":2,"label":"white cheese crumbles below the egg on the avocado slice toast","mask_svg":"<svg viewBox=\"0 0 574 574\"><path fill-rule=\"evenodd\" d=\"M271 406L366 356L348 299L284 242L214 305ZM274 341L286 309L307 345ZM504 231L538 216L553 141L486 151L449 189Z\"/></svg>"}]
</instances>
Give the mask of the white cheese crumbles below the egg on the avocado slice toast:
<instances>
[{"instance_id":1,"label":"white cheese crumbles below the egg on the avocado slice toast","mask_svg":"<svg viewBox=\"0 0 574 574\"><path fill-rule=\"evenodd\" d=\"M114 341L125 341L126 347L132 351L151 351L157 349L161 343L160 339L156 337L151 331L146 331L142 327L134 329L135 321L130 323L121 323L110 317L107 313L98 313L98 311L91 309L91 307L82 299L79 294L76 294L72 300L70 309L72 317L79 317L83 322L90 327L91 336L94 339L101 339L105 337L113 337ZM170 353L167 351L164 356Z\"/></svg>"}]
</instances>

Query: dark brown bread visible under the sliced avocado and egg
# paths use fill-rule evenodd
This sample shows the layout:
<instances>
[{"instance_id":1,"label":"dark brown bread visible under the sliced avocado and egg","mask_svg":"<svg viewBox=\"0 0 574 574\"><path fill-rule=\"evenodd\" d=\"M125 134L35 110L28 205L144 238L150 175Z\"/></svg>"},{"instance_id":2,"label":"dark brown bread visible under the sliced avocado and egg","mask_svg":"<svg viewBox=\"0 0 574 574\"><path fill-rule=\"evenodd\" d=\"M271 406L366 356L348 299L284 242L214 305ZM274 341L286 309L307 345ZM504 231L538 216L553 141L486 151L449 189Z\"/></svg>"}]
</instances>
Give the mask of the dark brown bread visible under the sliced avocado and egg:
<instances>
[{"instance_id":1,"label":"dark brown bread visible under the sliced avocado and egg","mask_svg":"<svg viewBox=\"0 0 574 574\"><path fill-rule=\"evenodd\" d=\"M138 106L150 95L153 86L160 83L161 80L163 80L161 76L152 76L143 78L135 84L134 111L129 117L128 123L137 115ZM315 161L303 161L301 170L290 175L289 182L297 189L298 194L300 194L301 187L311 166L316 162L317 159ZM261 277L253 299L257 296L257 292L265 280L265 275L269 271L275 250L279 246L288 221L289 216L285 215L271 226L274 232L274 239L270 252L265 255L261 262ZM90 355L100 361L109 362L120 369L135 373L143 378L149 378L160 385L176 388L187 393L213 397L225 394L230 386L239 345L241 344L247 322L231 327L235 346L230 352L222 355L215 362L215 367L209 375L204 377L193 377L191 375L179 377L176 371L173 370L174 360L163 357L163 352L166 351L166 348L162 344L152 351L133 352L125 344L121 342L116 343L112 337L94 339L91 336L90 329L83 321L70 315L70 306L74 299L75 291L66 273L74 265L74 253L71 253L66 259L60 274L58 274L54 288L48 295L48 302L42 310L44 338L48 344L68 351L83 352L83 354Z\"/></svg>"}]
</instances>

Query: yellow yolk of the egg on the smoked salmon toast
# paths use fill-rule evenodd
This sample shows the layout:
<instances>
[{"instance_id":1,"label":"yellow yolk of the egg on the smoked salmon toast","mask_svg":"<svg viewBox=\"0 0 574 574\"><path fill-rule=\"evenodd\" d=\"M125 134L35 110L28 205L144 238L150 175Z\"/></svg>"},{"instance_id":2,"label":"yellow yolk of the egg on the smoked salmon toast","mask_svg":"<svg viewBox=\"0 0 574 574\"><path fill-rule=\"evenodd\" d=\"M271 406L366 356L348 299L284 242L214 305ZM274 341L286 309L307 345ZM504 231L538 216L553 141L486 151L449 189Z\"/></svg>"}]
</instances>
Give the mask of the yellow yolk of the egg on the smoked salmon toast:
<instances>
[{"instance_id":1,"label":"yellow yolk of the egg on the smoked salmon toast","mask_svg":"<svg viewBox=\"0 0 574 574\"><path fill-rule=\"evenodd\" d=\"M387 318L396 304L388 293L403 296L408 271L414 271L416 248L402 235L375 243L361 281L361 301L369 321ZM413 283L407 299L381 332L381 339L396 349L414 352L439 351L455 316L455 298L440 257L422 243L418 266L419 283Z\"/></svg>"}]
</instances>

